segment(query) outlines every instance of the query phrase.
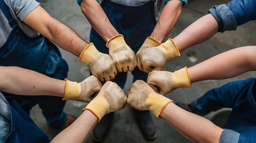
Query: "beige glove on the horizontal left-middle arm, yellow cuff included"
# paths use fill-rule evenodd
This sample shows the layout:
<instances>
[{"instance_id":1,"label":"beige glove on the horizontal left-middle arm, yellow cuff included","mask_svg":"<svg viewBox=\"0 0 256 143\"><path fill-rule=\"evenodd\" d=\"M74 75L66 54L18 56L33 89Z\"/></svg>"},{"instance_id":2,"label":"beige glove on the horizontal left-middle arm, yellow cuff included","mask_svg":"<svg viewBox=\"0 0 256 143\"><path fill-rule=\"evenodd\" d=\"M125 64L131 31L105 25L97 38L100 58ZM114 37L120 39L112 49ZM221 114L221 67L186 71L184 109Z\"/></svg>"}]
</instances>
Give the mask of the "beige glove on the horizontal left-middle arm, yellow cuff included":
<instances>
[{"instance_id":1,"label":"beige glove on the horizontal left-middle arm, yellow cuff included","mask_svg":"<svg viewBox=\"0 0 256 143\"><path fill-rule=\"evenodd\" d=\"M65 95L62 100L76 100L90 102L102 87L101 82L95 76L90 76L82 82L72 82L65 78Z\"/></svg>"}]
</instances>

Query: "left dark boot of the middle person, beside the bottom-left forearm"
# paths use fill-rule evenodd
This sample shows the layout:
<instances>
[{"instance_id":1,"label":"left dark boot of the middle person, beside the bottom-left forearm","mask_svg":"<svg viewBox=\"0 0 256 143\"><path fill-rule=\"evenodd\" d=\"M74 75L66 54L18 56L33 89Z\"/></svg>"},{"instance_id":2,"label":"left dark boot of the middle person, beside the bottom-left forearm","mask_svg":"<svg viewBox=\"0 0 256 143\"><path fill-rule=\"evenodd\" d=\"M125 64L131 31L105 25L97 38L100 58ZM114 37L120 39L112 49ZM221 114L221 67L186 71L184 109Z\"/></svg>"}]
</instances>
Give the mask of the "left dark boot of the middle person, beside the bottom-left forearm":
<instances>
[{"instance_id":1,"label":"left dark boot of the middle person, beside the bottom-left forearm","mask_svg":"<svg viewBox=\"0 0 256 143\"><path fill-rule=\"evenodd\" d=\"M106 114L99 123L93 129L92 140L94 142L102 142L106 139L108 131L112 125L113 117L115 112Z\"/></svg>"}]
</instances>

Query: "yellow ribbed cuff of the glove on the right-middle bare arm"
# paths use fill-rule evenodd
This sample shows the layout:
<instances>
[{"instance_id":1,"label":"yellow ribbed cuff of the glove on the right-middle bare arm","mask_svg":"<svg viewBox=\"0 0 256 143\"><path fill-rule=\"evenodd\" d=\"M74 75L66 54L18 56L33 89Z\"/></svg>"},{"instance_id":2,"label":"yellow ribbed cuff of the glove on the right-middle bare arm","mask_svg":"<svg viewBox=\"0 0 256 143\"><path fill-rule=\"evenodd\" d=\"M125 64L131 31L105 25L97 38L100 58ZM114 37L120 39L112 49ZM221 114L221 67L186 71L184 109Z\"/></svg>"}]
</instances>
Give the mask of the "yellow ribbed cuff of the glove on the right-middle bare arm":
<instances>
[{"instance_id":1,"label":"yellow ribbed cuff of the glove on the right-middle bare arm","mask_svg":"<svg viewBox=\"0 0 256 143\"><path fill-rule=\"evenodd\" d=\"M191 87L188 69L184 67L171 73L171 82L175 89L180 87Z\"/></svg>"}]
</instances>

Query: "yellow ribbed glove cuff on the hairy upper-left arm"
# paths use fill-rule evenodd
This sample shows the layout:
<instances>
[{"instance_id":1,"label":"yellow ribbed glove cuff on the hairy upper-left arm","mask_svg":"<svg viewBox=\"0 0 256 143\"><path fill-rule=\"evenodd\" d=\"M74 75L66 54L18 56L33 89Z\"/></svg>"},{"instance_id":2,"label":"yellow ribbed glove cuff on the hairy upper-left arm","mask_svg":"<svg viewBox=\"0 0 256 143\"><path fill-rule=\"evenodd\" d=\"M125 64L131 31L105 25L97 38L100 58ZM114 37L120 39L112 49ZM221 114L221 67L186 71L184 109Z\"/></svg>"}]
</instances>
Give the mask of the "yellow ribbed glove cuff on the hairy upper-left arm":
<instances>
[{"instance_id":1,"label":"yellow ribbed glove cuff on the hairy upper-left arm","mask_svg":"<svg viewBox=\"0 0 256 143\"><path fill-rule=\"evenodd\" d=\"M93 67L95 63L97 63L103 55L99 52L93 43L87 45L81 55L79 56L78 61L84 62L88 67Z\"/></svg>"}]
</instances>

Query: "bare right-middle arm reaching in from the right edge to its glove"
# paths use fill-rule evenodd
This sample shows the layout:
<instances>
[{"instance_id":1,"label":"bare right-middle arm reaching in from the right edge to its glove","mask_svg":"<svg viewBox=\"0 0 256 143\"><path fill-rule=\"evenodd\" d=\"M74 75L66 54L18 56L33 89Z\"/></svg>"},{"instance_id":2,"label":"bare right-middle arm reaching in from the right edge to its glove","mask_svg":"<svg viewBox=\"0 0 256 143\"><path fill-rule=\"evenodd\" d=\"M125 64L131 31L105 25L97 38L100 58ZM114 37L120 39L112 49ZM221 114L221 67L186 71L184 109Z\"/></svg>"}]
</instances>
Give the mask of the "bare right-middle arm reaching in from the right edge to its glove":
<instances>
[{"instance_id":1,"label":"bare right-middle arm reaching in from the right edge to its glove","mask_svg":"<svg viewBox=\"0 0 256 143\"><path fill-rule=\"evenodd\" d=\"M256 70L256 46L246 46L213 56L188 68L191 82L232 78Z\"/></svg>"}]
</instances>

